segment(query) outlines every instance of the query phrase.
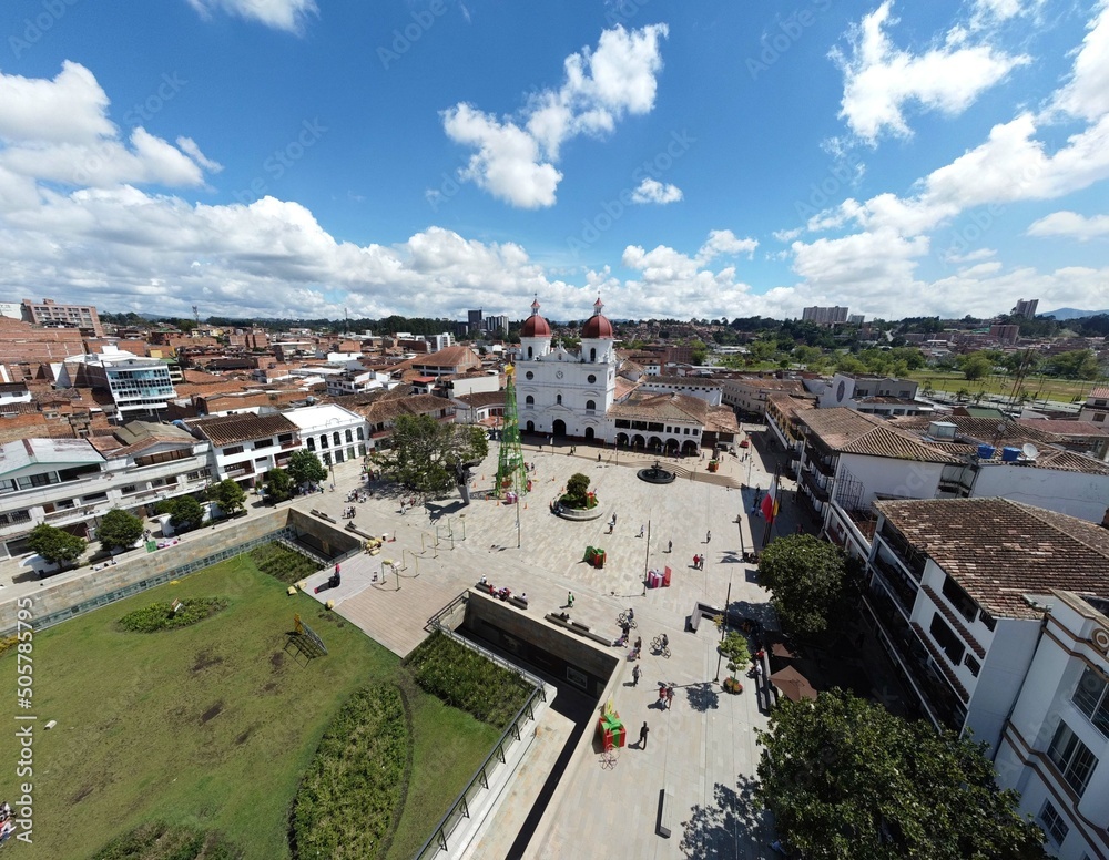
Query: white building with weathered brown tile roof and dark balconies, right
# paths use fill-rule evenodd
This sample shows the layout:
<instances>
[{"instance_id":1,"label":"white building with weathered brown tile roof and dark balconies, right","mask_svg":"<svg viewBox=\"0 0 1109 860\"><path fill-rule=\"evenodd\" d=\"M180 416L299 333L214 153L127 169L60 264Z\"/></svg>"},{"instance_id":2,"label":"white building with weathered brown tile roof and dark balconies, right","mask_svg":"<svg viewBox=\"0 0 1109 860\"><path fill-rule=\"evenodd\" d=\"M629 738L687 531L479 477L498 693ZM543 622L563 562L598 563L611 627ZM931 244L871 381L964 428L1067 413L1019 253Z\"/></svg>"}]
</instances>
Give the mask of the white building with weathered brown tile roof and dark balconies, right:
<instances>
[{"instance_id":1,"label":"white building with weathered brown tile roof and dark balconies, right","mask_svg":"<svg viewBox=\"0 0 1109 860\"><path fill-rule=\"evenodd\" d=\"M1106 593L1109 532L1004 499L875 508L866 615L922 713L973 730L993 757L1041 636L1051 633L1029 595ZM1099 796L1109 800L1109 772L1100 777ZM1107 812L1099 806L1096 820Z\"/></svg>"}]
</instances>

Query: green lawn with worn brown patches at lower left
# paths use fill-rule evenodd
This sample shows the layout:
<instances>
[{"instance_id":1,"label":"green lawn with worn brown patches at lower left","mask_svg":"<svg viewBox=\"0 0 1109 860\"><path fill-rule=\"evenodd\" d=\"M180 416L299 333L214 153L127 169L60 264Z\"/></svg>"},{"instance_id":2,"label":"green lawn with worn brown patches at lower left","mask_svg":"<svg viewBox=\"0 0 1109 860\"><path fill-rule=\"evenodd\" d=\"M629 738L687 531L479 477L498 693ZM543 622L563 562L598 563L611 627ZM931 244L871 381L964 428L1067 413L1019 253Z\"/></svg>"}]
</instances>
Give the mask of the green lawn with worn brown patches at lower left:
<instances>
[{"instance_id":1,"label":"green lawn with worn brown patches at lower left","mask_svg":"<svg viewBox=\"0 0 1109 860\"><path fill-rule=\"evenodd\" d=\"M125 633L116 621L155 601L225 597L190 627ZM284 652L299 612L329 655ZM256 860L288 857L289 805L329 720L350 693L396 680L408 697L414 766L389 857L407 858L462 789L499 733L421 693L399 659L246 556L35 634L33 844L21 857L79 860L139 823L217 830ZM16 708L16 653L0 689ZM47 731L43 724L55 719ZM18 747L0 736L14 801ZM3 798L0 798L3 799ZM16 803L12 802L14 806Z\"/></svg>"}]
</instances>

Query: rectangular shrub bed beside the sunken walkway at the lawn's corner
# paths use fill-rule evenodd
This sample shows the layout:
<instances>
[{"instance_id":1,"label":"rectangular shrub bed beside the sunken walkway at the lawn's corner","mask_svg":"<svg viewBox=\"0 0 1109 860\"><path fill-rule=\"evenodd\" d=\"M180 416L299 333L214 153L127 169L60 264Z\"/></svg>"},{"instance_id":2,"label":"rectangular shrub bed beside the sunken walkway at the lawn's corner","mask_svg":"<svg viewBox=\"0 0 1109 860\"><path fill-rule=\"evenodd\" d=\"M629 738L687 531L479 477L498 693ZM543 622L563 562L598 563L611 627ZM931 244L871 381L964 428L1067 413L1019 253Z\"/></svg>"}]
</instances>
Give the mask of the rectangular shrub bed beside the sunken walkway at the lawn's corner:
<instances>
[{"instance_id":1,"label":"rectangular shrub bed beside the sunken walkway at the lawn's corner","mask_svg":"<svg viewBox=\"0 0 1109 860\"><path fill-rule=\"evenodd\" d=\"M416 683L497 728L508 726L531 685L520 675L436 631L406 658Z\"/></svg>"}]
</instances>

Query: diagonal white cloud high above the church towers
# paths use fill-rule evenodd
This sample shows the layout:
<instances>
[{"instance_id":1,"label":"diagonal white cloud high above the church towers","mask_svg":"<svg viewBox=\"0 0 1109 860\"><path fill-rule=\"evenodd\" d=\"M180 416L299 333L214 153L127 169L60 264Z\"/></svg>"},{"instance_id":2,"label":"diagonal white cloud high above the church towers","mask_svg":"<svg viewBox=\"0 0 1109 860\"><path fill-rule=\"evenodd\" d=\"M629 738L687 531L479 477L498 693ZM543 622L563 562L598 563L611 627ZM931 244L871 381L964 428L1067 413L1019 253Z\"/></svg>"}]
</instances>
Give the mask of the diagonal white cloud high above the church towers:
<instances>
[{"instance_id":1,"label":"diagonal white cloud high above the church towers","mask_svg":"<svg viewBox=\"0 0 1109 860\"><path fill-rule=\"evenodd\" d=\"M518 121L461 102L444 111L447 136L478 151L461 178L520 208L554 205L562 180L554 162L567 141L608 134L624 114L654 108L667 32L665 24L603 31L594 50L566 59L562 85L533 95Z\"/></svg>"}]
</instances>

